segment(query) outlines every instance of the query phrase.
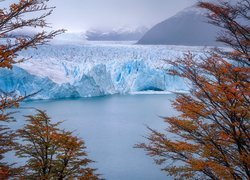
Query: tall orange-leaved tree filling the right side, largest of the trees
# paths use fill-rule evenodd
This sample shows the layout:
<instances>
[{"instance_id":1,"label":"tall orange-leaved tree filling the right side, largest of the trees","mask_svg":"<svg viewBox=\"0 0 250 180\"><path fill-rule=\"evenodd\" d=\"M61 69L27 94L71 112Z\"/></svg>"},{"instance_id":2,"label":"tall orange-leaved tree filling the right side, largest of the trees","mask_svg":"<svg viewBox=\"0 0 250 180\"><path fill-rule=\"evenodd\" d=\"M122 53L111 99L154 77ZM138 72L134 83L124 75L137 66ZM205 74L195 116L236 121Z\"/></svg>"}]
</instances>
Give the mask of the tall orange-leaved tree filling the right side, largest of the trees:
<instances>
[{"instance_id":1,"label":"tall orange-leaved tree filling the right side, largest of the trees","mask_svg":"<svg viewBox=\"0 0 250 180\"><path fill-rule=\"evenodd\" d=\"M206 57L188 53L168 61L170 74L192 84L190 94L180 94L173 102L180 115L165 118L166 132L149 128L148 143L136 147L176 178L249 179L250 2L198 6L209 11L210 23L223 29L217 40L232 50L215 49Z\"/></svg>"}]
</instances>

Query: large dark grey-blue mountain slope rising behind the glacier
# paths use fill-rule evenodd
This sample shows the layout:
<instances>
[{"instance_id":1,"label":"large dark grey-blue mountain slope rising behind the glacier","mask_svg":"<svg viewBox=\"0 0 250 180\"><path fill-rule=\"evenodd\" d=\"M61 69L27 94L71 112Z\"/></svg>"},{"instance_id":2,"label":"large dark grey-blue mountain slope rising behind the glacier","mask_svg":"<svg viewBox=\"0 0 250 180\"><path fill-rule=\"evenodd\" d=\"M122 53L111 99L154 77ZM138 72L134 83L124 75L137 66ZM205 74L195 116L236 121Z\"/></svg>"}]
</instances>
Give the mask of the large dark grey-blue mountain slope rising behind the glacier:
<instances>
[{"instance_id":1,"label":"large dark grey-blue mountain slope rising behind the glacier","mask_svg":"<svg viewBox=\"0 0 250 180\"><path fill-rule=\"evenodd\" d=\"M187 46L218 46L215 41L218 27L207 23L205 10L189 7L155 25L138 44L166 44Z\"/></svg>"}]
</instances>

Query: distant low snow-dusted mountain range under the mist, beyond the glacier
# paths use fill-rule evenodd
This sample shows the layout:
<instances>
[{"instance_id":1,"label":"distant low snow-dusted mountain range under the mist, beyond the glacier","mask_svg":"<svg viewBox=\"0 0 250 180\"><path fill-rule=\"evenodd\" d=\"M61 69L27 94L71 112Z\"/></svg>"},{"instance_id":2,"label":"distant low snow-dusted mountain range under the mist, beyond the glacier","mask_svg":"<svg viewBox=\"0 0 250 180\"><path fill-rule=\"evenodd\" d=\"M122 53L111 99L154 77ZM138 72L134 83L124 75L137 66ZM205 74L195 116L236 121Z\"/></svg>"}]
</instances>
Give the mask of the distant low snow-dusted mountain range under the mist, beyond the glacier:
<instances>
[{"instance_id":1,"label":"distant low snow-dusted mountain range under the mist, beyond the glacier","mask_svg":"<svg viewBox=\"0 0 250 180\"><path fill-rule=\"evenodd\" d=\"M89 30L86 39L89 41L138 41L147 32L147 28L141 27L135 30L120 28L116 30Z\"/></svg>"}]
</instances>

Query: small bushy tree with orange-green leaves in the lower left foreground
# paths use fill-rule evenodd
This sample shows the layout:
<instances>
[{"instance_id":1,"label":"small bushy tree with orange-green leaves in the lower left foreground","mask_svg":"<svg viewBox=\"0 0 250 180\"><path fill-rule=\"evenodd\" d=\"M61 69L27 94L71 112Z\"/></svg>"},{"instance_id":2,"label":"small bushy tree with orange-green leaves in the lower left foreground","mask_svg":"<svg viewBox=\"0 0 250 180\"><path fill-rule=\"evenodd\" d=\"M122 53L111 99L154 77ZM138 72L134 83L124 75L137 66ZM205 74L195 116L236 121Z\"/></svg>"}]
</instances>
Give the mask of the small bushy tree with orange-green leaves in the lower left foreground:
<instances>
[{"instance_id":1,"label":"small bushy tree with orange-green leaves in the lower left foreground","mask_svg":"<svg viewBox=\"0 0 250 180\"><path fill-rule=\"evenodd\" d=\"M72 132L59 129L43 111L27 116L27 124L18 130L24 144L17 145L17 155L28 158L24 178L33 179L98 179L93 161L86 158L84 141Z\"/></svg>"}]
</instances>

